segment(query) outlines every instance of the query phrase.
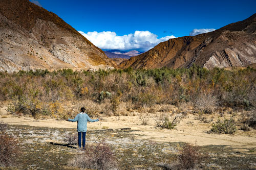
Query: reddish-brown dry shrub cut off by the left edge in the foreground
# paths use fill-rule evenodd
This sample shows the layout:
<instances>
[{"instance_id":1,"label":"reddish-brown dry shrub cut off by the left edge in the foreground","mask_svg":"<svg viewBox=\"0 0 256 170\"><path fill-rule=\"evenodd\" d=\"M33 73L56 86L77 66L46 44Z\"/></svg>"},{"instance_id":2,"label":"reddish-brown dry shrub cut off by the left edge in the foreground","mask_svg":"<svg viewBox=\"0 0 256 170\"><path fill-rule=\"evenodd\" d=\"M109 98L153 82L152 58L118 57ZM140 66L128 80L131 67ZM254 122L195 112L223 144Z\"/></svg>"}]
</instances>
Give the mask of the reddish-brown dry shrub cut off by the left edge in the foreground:
<instances>
[{"instance_id":1,"label":"reddish-brown dry shrub cut off by the left edge in the foreground","mask_svg":"<svg viewBox=\"0 0 256 170\"><path fill-rule=\"evenodd\" d=\"M20 155L18 140L6 133L0 134L0 165L15 166Z\"/></svg>"}]
</instances>

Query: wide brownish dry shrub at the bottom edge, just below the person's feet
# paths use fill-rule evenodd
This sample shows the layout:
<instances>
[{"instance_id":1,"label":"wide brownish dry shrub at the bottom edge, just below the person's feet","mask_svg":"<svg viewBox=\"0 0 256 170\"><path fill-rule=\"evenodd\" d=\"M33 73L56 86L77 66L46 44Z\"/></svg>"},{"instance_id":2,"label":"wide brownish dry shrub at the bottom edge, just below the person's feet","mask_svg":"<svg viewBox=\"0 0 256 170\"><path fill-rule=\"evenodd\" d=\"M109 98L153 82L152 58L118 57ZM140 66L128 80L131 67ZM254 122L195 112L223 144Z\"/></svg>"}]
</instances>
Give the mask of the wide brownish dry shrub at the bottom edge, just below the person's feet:
<instances>
[{"instance_id":1,"label":"wide brownish dry shrub at the bottom edge, just below the person's feet","mask_svg":"<svg viewBox=\"0 0 256 170\"><path fill-rule=\"evenodd\" d=\"M72 166L89 169L115 169L117 161L110 146L104 142L97 145L87 145L82 155L77 155L70 161Z\"/></svg>"}]
</instances>

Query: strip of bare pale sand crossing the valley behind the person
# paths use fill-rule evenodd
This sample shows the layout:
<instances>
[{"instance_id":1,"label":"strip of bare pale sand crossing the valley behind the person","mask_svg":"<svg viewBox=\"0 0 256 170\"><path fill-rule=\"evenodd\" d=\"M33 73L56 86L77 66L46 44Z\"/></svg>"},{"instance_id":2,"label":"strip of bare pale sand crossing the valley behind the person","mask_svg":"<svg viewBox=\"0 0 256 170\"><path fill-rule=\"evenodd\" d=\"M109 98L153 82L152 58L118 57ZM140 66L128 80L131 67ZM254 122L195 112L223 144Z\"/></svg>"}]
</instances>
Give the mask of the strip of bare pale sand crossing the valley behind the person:
<instances>
[{"instance_id":1,"label":"strip of bare pale sand crossing the valley behind the person","mask_svg":"<svg viewBox=\"0 0 256 170\"><path fill-rule=\"evenodd\" d=\"M0 122L10 125L29 125L35 127L50 127L50 128L74 128L76 123L67 122L65 120L56 119L39 119L35 120L32 117L17 117L7 113L7 107L0 109ZM256 130L244 132L241 130L236 133L229 134L209 134L211 123L206 124L195 119L195 115L188 114L180 120L176 130L158 129L155 128L156 114L148 114L148 125L141 125L139 113L134 113L134 116L111 116L101 117L100 122L88 123L88 129L119 129L131 128L135 130L136 138L148 139L158 142L187 142L197 145L230 145L239 148L255 148L256 147ZM217 120L214 115L209 115Z\"/></svg>"}]
</instances>

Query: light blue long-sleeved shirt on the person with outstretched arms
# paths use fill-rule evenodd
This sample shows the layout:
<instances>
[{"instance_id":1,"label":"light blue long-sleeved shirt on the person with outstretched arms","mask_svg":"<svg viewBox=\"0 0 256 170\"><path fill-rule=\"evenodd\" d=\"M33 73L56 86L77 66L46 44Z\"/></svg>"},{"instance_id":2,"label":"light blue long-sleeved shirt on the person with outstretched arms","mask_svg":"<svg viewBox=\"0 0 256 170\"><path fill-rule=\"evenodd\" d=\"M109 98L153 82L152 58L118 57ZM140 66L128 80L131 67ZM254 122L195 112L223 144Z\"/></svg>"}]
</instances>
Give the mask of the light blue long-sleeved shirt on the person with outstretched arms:
<instances>
[{"instance_id":1,"label":"light blue long-sleeved shirt on the person with outstretched arms","mask_svg":"<svg viewBox=\"0 0 256 170\"><path fill-rule=\"evenodd\" d=\"M77 132L87 132L87 122L98 122L99 119L91 119L86 113L79 113L74 119L70 119L70 122L77 122Z\"/></svg>"}]
</instances>

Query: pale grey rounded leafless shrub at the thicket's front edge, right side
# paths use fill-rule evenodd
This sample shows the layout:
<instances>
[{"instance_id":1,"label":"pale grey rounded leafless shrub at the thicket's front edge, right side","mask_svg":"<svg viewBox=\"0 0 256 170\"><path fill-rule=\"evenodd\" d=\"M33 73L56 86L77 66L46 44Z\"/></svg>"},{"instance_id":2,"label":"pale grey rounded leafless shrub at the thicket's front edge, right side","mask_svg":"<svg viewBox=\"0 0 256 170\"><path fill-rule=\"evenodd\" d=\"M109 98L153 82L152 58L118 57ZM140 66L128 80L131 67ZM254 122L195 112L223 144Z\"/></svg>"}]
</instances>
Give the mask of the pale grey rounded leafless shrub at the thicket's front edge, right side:
<instances>
[{"instance_id":1,"label":"pale grey rounded leafless shrub at the thicket's front edge, right side","mask_svg":"<svg viewBox=\"0 0 256 170\"><path fill-rule=\"evenodd\" d=\"M212 94L201 94L196 99L195 106L204 113L211 114L218 106L218 99Z\"/></svg>"}]
</instances>

